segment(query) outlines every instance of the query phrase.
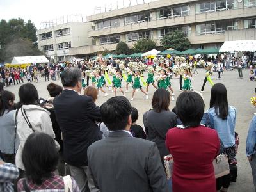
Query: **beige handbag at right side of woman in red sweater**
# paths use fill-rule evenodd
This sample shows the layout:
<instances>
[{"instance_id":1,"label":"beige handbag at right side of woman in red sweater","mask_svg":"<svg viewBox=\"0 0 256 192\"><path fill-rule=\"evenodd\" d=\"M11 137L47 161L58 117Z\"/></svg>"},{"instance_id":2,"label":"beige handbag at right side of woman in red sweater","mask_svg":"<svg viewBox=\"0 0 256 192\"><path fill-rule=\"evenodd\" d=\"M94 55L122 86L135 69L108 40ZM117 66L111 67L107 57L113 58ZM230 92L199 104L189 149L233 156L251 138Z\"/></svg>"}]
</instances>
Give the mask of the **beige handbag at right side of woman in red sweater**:
<instances>
[{"instance_id":1,"label":"beige handbag at right side of woman in red sweater","mask_svg":"<svg viewBox=\"0 0 256 192\"><path fill-rule=\"evenodd\" d=\"M225 154L220 154L213 160L215 178L228 175L230 173L228 157Z\"/></svg>"}]
</instances>

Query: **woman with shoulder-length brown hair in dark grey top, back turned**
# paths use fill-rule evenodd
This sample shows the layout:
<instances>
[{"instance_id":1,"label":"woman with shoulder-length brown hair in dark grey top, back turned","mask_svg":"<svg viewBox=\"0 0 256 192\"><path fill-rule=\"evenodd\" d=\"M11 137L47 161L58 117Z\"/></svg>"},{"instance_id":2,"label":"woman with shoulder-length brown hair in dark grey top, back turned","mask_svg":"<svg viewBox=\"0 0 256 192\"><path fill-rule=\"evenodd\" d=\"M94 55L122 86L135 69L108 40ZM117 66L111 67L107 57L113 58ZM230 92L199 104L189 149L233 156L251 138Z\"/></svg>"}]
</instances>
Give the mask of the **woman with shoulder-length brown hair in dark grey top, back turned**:
<instances>
[{"instance_id":1,"label":"woman with shoulder-length brown hair in dark grey top, back turned","mask_svg":"<svg viewBox=\"0 0 256 192\"><path fill-rule=\"evenodd\" d=\"M154 92L152 98L152 110L143 115L143 123L147 140L156 143L160 153L161 161L168 155L168 149L165 146L166 132L177 125L177 116L170 111L170 92L159 88Z\"/></svg>"}]
</instances>

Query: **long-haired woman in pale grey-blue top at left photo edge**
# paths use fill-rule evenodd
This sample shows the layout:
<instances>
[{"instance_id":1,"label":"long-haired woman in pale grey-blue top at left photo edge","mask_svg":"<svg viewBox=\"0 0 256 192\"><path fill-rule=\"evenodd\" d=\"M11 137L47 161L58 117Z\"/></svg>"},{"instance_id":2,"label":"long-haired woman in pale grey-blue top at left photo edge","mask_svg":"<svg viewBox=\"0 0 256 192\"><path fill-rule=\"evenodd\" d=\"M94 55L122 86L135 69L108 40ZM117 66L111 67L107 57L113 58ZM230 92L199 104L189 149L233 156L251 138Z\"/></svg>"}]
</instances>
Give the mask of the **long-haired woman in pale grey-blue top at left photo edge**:
<instances>
[{"instance_id":1,"label":"long-haired woman in pale grey-blue top at left photo edge","mask_svg":"<svg viewBox=\"0 0 256 192\"><path fill-rule=\"evenodd\" d=\"M15 164L15 153L19 147L19 138L15 129L15 95L12 92L0 92L0 156L7 162Z\"/></svg>"}]
</instances>

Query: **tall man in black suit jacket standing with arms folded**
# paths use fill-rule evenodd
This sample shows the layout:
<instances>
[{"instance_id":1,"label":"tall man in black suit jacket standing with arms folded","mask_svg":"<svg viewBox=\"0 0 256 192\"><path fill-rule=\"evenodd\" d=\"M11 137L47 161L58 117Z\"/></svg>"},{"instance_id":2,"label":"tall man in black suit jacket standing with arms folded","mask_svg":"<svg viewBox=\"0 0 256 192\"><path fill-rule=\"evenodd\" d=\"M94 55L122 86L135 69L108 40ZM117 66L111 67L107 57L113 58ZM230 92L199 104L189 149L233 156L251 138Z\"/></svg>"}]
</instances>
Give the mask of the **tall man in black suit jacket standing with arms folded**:
<instances>
[{"instance_id":1,"label":"tall man in black suit jacket standing with arms folded","mask_svg":"<svg viewBox=\"0 0 256 192\"><path fill-rule=\"evenodd\" d=\"M92 97L78 94L82 88L81 70L78 68L64 70L61 82L63 93L54 99L53 104L63 134L64 159L79 189L82 192L89 191L87 148L102 138L95 123L101 121L100 108Z\"/></svg>"}]
</instances>

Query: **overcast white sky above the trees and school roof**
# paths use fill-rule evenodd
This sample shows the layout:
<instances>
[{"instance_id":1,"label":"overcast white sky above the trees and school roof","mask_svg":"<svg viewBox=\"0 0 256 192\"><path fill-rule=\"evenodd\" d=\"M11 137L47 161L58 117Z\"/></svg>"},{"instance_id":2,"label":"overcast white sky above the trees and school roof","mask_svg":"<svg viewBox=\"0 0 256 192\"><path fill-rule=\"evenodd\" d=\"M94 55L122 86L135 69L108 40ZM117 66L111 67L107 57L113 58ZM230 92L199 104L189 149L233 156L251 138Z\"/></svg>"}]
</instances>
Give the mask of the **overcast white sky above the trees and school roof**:
<instances>
[{"instance_id":1,"label":"overcast white sky above the trees and school roof","mask_svg":"<svg viewBox=\"0 0 256 192\"><path fill-rule=\"evenodd\" d=\"M96 7L107 7L116 9L129 6L130 0L0 0L0 19L9 20L21 17L32 20L36 28L40 23L53 20L63 15L80 14L86 16L99 13ZM156 0L145 0L145 3ZM143 0L131 0L131 5L143 3Z\"/></svg>"}]
</instances>

